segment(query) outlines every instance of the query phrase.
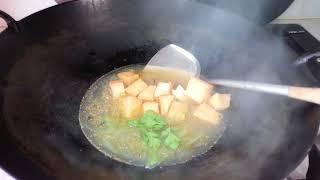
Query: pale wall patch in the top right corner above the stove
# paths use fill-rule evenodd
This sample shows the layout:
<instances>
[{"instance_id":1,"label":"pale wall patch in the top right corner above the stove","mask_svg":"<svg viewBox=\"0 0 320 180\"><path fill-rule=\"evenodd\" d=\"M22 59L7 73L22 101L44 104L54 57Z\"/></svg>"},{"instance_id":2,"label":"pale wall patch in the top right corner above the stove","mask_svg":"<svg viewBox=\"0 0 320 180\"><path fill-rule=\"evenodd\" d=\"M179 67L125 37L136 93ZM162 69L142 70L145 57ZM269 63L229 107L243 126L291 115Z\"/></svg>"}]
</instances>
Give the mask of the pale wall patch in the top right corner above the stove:
<instances>
[{"instance_id":1,"label":"pale wall patch in the top right corner above the stove","mask_svg":"<svg viewBox=\"0 0 320 180\"><path fill-rule=\"evenodd\" d=\"M320 0L295 0L278 19L310 18L320 18Z\"/></svg>"}]
</instances>

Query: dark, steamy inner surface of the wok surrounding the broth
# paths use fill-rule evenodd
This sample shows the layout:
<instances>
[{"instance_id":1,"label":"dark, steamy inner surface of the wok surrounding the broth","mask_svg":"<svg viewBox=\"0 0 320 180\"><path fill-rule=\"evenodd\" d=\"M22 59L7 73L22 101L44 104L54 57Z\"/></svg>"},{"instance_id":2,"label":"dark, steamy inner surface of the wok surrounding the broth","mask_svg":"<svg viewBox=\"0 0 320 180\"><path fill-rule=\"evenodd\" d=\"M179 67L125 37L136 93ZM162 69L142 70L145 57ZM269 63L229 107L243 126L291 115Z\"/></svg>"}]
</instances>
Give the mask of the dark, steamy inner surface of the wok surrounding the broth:
<instances>
[{"instance_id":1,"label":"dark, steamy inner surface of the wok surrounding the broth","mask_svg":"<svg viewBox=\"0 0 320 180\"><path fill-rule=\"evenodd\" d=\"M20 25L22 32L0 36L1 129L49 177L281 179L303 159L318 130L319 109L313 105L231 90L229 125L203 156L152 170L119 163L84 137L80 101L101 75L146 63L169 43L192 52L206 78L314 81L305 69L290 65L295 55L270 34L195 2L77 1ZM4 137L1 141L8 142Z\"/></svg>"}]
</instances>

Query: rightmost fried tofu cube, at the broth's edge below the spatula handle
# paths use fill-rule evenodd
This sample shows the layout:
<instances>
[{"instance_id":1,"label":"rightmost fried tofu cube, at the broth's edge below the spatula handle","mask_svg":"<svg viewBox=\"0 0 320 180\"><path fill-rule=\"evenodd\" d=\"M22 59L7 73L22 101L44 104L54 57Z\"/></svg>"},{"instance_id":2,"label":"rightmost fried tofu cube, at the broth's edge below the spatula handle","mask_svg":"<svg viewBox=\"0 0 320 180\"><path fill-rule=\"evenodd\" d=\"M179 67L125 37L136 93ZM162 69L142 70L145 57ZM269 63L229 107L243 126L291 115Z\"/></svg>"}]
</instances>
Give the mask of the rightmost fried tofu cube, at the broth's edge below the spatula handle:
<instances>
[{"instance_id":1,"label":"rightmost fried tofu cube, at the broth's edge below the spatula handle","mask_svg":"<svg viewBox=\"0 0 320 180\"><path fill-rule=\"evenodd\" d=\"M228 109L230 106L231 94L215 93L209 99L209 104L218 111Z\"/></svg>"}]
</instances>

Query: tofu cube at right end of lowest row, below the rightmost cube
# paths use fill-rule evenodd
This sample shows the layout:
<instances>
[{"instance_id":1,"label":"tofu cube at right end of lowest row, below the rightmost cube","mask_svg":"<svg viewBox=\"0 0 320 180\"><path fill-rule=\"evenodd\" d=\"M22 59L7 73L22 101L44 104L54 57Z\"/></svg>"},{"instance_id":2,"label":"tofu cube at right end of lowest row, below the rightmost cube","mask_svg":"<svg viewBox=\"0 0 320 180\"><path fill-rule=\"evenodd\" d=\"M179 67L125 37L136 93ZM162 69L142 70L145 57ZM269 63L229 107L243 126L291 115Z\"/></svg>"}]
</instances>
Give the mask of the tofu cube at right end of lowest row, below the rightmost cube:
<instances>
[{"instance_id":1,"label":"tofu cube at right end of lowest row, below the rightmost cube","mask_svg":"<svg viewBox=\"0 0 320 180\"><path fill-rule=\"evenodd\" d=\"M193 116L196 118L211 123L213 125L219 124L222 119L222 114L214 110L208 104L200 104L193 112Z\"/></svg>"}]
</instances>

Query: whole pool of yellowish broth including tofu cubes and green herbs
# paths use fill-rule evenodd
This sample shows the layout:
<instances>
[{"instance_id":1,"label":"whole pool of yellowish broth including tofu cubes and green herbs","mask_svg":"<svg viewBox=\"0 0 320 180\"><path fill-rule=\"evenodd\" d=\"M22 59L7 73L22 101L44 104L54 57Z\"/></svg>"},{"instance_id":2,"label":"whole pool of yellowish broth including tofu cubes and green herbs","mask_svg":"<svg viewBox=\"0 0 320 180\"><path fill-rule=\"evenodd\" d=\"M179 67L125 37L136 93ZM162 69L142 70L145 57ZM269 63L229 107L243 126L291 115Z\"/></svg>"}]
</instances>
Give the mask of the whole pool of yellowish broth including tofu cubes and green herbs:
<instances>
[{"instance_id":1,"label":"whole pool of yellowish broth including tofu cubes and green herbs","mask_svg":"<svg viewBox=\"0 0 320 180\"><path fill-rule=\"evenodd\" d=\"M212 85L184 71L143 67L119 68L91 85L79 113L87 139L113 159L146 168L184 163L211 149L224 132L221 111L229 102L222 100L230 95L213 95ZM200 95L205 90L209 97Z\"/></svg>"}]
</instances>

